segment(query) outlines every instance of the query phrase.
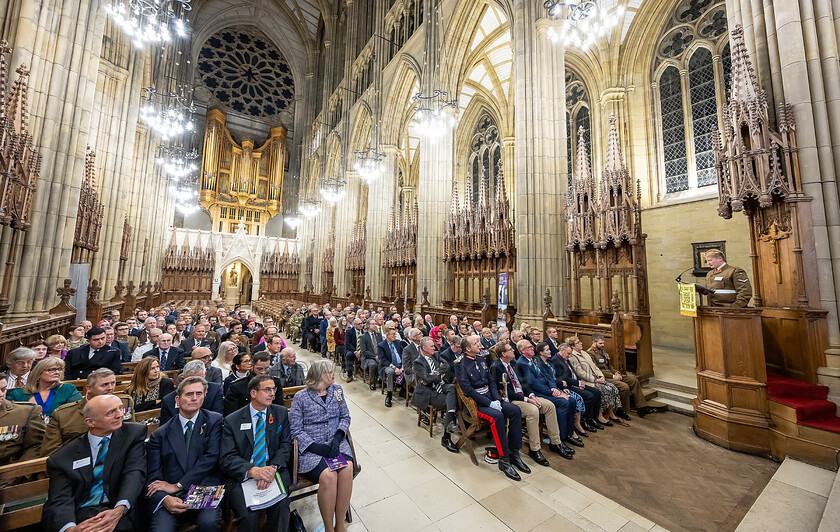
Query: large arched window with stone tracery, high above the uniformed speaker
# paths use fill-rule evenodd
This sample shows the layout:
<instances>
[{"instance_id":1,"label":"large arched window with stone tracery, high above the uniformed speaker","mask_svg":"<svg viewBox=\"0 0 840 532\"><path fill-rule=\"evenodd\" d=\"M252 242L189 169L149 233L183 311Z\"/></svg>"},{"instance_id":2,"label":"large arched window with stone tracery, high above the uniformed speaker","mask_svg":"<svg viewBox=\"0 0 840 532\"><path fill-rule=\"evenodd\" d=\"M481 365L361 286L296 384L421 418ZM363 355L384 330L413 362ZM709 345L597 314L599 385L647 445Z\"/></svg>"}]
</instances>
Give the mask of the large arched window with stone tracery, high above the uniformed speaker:
<instances>
[{"instance_id":1,"label":"large arched window with stone tracery, high above the uniformed speaker","mask_svg":"<svg viewBox=\"0 0 840 532\"><path fill-rule=\"evenodd\" d=\"M731 58L724 0L679 2L654 60L664 193L717 183L712 136L719 91L728 93Z\"/></svg>"}]
</instances>

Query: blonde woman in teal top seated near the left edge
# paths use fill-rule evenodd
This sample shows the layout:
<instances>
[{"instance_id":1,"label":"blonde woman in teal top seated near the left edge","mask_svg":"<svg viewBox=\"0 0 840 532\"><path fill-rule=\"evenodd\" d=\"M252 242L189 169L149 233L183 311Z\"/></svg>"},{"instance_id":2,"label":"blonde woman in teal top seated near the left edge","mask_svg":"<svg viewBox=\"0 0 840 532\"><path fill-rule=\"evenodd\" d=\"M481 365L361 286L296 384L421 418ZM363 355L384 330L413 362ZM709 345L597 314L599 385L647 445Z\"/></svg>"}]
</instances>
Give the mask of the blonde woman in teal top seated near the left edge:
<instances>
[{"instance_id":1,"label":"blonde woman in teal top seated near the left edge","mask_svg":"<svg viewBox=\"0 0 840 532\"><path fill-rule=\"evenodd\" d=\"M32 368L23 388L9 392L9 400L19 403L35 403L41 407L41 414L48 418L61 405L75 403L82 394L72 383L61 383L64 376L64 361L47 357Z\"/></svg>"}]
</instances>

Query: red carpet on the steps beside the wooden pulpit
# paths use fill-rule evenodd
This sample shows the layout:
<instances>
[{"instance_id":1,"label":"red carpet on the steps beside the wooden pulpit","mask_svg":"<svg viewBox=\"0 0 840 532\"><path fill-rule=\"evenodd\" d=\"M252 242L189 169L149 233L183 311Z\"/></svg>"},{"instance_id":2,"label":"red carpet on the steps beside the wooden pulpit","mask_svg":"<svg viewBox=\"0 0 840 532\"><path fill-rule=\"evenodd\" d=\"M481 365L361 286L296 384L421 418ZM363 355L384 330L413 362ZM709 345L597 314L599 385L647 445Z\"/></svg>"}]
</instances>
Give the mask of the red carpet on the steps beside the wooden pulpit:
<instances>
[{"instance_id":1,"label":"red carpet on the steps beside the wooden pulpit","mask_svg":"<svg viewBox=\"0 0 840 532\"><path fill-rule=\"evenodd\" d=\"M837 407L827 397L828 386L767 374L767 398L794 408L797 423L840 433L840 418L835 415Z\"/></svg>"}]
</instances>

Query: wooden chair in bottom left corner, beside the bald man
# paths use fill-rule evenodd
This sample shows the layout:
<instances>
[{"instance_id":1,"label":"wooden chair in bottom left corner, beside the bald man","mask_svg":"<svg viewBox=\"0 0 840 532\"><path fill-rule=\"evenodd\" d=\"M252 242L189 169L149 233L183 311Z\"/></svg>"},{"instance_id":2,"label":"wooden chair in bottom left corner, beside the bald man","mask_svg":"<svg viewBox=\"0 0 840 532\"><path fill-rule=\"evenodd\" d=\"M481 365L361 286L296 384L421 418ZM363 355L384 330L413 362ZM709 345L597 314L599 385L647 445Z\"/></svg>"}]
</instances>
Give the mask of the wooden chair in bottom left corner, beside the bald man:
<instances>
[{"instance_id":1,"label":"wooden chair in bottom left corner, beside the bald man","mask_svg":"<svg viewBox=\"0 0 840 532\"><path fill-rule=\"evenodd\" d=\"M47 459L36 458L0 467L0 485L18 477L42 476ZM0 530L13 530L41 522L41 511L47 500L50 479L39 478L22 484L0 488Z\"/></svg>"}]
</instances>

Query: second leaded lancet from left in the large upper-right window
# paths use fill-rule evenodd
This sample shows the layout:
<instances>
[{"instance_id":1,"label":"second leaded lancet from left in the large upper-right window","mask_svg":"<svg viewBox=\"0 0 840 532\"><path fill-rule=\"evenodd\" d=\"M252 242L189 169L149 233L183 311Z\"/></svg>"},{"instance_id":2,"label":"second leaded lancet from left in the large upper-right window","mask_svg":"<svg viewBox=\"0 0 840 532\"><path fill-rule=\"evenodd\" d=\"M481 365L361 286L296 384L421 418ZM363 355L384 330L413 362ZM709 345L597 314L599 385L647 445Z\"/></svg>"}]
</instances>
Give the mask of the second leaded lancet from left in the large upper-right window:
<instances>
[{"instance_id":1,"label":"second leaded lancet from left in the large upper-right window","mask_svg":"<svg viewBox=\"0 0 840 532\"><path fill-rule=\"evenodd\" d=\"M688 62L688 82L697 186L706 187L717 183L712 132L718 128L715 69L712 53L706 48L698 48L691 56Z\"/></svg>"}]
</instances>

